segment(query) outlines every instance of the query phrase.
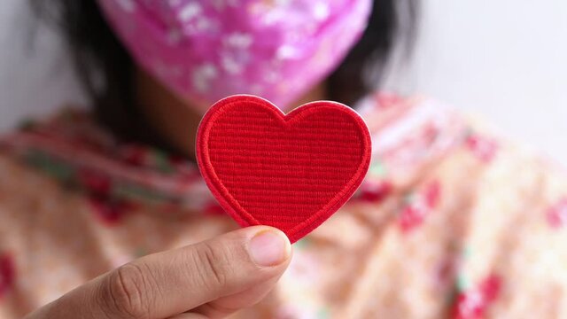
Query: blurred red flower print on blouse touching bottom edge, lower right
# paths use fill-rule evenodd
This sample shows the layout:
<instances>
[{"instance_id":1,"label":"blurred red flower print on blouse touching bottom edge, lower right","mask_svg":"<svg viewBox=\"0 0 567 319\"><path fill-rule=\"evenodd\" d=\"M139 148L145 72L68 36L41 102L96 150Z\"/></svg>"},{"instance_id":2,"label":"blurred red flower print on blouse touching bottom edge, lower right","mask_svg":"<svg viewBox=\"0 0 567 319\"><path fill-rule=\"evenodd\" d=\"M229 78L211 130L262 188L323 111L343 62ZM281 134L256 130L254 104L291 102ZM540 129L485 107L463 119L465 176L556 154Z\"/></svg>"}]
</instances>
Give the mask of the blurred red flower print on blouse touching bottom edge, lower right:
<instances>
[{"instance_id":1,"label":"blurred red flower print on blouse touching bottom edge, lower right","mask_svg":"<svg viewBox=\"0 0 567 319\"><path fill-rule=\"evenodd\" d=\"M501 277L491 275L485 278L478 287L457 295L454 304L454 319L480 319L485 316L486 309L501 292Z\"/></svg>"}]
</instances>

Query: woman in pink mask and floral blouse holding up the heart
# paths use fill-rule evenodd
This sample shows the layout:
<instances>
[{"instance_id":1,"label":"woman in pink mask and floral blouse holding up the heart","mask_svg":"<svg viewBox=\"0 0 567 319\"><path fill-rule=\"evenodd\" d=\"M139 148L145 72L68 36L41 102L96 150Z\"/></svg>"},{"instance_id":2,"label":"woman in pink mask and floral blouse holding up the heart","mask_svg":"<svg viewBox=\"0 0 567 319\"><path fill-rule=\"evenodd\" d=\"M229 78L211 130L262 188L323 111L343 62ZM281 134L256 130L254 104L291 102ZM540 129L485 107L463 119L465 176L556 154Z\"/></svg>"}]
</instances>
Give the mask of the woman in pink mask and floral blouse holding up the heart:
<instances>
[{"instance_id":1,"label":"woman in pink mask and floral blouse holding up the heart","mask_svg":"<svg viewBox=\"0 0 567 319\"><path fill-rule=\"evenodd\" d=\"M3 318L567 316L562 173L370 91L394 1L43 4L93 111L2 138ZM236 230L193 164L200 117L233 93L355 104L374 136L361 189L293 256L278 230Z\"/></svg>"}]
</instances>

